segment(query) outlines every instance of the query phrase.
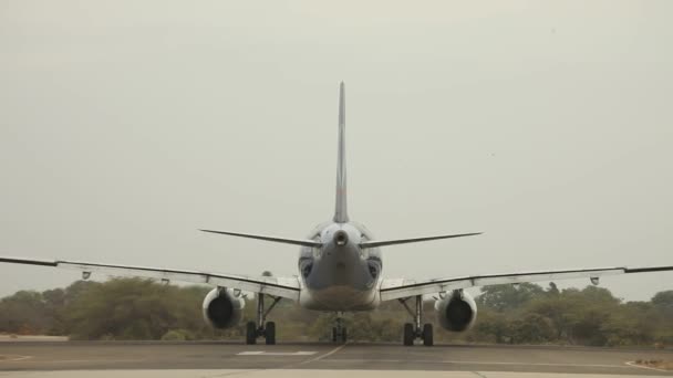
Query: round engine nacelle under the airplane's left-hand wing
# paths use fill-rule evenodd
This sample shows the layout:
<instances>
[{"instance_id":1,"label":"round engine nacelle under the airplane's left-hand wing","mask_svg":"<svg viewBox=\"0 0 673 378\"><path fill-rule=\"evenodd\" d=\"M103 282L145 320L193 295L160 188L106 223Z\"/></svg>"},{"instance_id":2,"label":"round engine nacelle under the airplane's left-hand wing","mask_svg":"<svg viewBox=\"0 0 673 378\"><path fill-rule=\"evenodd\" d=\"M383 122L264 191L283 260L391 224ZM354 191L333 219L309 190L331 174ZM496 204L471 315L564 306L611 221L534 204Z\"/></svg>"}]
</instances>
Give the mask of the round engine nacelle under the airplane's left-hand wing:
<instances>
[{"instance_id":1,"label":"round engine nacelle under the airplane's left-hand wing","mask_svg":"<svg viewBox=\"0 0 673 378\"><path fill-rule=\"evenodd\" d=\"M240 322L245 305L239 291L216 287L204 298L204 319L214 328L234 327Z\"/></svg>"}]
</instances>

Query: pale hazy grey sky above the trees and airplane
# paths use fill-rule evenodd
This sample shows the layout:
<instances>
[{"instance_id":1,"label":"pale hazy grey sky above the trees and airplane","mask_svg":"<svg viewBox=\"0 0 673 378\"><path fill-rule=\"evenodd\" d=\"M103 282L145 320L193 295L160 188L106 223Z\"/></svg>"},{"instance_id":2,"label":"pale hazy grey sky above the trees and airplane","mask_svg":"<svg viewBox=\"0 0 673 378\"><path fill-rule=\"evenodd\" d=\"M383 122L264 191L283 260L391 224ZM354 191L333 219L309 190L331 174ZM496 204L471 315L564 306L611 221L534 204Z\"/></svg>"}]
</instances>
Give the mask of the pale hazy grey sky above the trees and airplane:
<instances>
[{"instance_id":1,"label":"pale hazy grey sky above the trees and airplane","mask_svg":"<svg viewBox=\"0 0 673 378\"><path fill-rule=\"evenodd\" d=\"M331 218L342 80L351 218L486 232L389 246L385 276L673 264L666 0L1 0L0 255L296 274L197 229ZM0 295L76 279L0 265Z\"/></svg>"}]
</instances>

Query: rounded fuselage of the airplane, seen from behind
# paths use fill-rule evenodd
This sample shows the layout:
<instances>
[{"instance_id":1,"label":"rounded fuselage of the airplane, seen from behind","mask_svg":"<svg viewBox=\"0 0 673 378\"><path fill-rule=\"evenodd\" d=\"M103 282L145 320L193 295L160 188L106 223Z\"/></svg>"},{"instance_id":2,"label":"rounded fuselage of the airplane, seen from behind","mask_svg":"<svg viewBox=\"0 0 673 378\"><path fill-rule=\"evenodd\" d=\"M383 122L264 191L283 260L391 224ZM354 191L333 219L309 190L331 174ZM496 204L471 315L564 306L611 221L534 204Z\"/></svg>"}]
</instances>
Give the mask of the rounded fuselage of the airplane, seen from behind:
<instances>
[{"instance_id":1,"label":"rounded fuselage of the airplane, seen from behind","mask_svg":"<svg viewBox=\"0 0 673 378\"><path fill-rule=\"evenodd\" d=\"M299 254L301 294L299 303L309 309L364 311L379 306L382 282L381 251L361 248L373 240L355 222L325 222L308 237L322 246L302 246Z\"/></svg>"}]
</instances>

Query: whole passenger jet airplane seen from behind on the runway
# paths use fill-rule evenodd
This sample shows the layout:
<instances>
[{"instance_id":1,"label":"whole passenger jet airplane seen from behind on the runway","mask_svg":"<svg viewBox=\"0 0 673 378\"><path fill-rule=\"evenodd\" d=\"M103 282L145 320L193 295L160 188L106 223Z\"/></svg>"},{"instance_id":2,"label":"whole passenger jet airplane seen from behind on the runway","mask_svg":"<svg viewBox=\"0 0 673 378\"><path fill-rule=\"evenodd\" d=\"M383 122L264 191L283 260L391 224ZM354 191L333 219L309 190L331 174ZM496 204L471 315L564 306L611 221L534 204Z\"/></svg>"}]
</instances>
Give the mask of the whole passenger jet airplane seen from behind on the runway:
<instances>
[{"instance_id":1,"label":"whole passenger jet airplane seen from behind on the runway","mask_svg":"<svg viewBox=\"0 0 673 378\"><path fill-rule=\"evenodd\" d=\"M581 270L548 270L506 274L466 275L434 280L384 279L381 248L417 243L439 239L465 238L480 232L441 234L413 239L377 240L361 223L351 221L346 202L345 170L345 93L343 82L339 90L339 143L336 162L336 198L334 214L321 223L306 239L289 239L256 233L200 230L208 233L257 239L267 242L301 246L298 275L290 277L244 276L196 272L164 267L102 264L64 260L39 260L0 256L0 262L71 269L82 272L87 280L93 272L107 275L133 275L162 280L207 284L214 288L203 302L206 323L214 328L237 326L246 304L245 292L256 293L257 318L246 324L246 344L263 338L267 345L276 344L276 323L267 317L281 300L291 300L308 309L336 314L332 327L332 342L345 343L344 312L372 311L382 302L398 301L410 313L412 322L402 329L403 345L412 346L416 339L432 346L433 326L423 323L423 296L434 295L439 325L448 332L469 329L477 317L477 306L465 288L499 284L517 284L588 277L593 284L601 276L615 274L672 271L673 266L597 267ZM271 302L267 307L265 297ZM415 302L410 306L408 302Z\"/></svg>"}]
</instances>

